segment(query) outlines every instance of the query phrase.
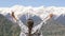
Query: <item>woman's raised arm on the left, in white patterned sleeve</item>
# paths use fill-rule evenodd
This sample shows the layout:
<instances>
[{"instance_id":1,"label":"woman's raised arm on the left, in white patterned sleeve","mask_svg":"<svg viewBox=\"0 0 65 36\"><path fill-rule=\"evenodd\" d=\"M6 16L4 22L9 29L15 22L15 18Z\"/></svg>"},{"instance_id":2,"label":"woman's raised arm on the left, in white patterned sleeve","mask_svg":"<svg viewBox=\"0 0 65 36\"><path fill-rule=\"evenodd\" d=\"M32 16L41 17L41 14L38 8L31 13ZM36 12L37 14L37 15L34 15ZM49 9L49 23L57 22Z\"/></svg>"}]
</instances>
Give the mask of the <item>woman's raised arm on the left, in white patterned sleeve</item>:
<instances>
[{"instance_id":1,"label":"woman's raised arm on the left, in white patterned sleeve","mask_svg":"<svg viewBox=\"0 0 65 36\"><path fill-rule=\"evenodd\" d=\"M16 23L21 26L22 32L27 33L28 28L25 24L23 24L23 22L20 19L15 17L14 12L12 12L11 16L14 18L14 20L16 20Z\"/></svg>"}]
</instances>

